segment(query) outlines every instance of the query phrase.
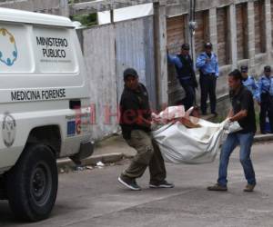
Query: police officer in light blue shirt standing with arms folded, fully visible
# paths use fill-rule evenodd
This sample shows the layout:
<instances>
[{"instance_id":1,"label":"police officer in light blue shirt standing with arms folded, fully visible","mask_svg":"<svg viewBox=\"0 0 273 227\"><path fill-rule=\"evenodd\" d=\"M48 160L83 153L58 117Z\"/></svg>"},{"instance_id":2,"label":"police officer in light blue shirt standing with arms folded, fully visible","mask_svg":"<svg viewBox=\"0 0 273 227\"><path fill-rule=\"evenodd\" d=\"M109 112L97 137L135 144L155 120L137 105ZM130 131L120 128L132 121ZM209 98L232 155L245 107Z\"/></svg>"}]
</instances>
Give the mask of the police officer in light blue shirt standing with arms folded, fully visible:
<instances>
[{"instance_id":1,"label":"police officer in light blue shirt standing with arms folded, fully visible","mask_svg":"<svg viewBox=\"0 0 273 227\"><path fill-rule=\"evenodd\" d=\"M216 86L219 76L217 55L212 52L212 44L205 44L205 52L197 56L197 68L200 71L201 111L207 114L207 94L209 94L211 114L216 113Z\"/></svg>"}]
</instances>

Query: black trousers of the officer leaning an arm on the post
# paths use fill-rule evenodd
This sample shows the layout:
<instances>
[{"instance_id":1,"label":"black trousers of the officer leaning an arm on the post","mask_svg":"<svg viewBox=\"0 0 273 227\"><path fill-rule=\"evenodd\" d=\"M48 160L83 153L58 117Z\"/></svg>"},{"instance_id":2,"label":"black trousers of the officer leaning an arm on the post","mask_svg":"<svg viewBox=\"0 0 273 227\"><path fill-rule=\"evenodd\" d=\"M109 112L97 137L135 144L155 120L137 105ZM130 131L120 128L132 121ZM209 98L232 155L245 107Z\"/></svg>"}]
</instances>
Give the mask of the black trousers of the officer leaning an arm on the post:
<instances>
[{"instance_id":1,"label":"black trousers of the officer leaning an arm on the post","mask_svg":"<svg viewBox=\"0 0 273 227\"><path fill-rule=\"evenodd\" d=\"M191 79L182 80L181 78L179 78L179 82L186 94L185 98L182 100L182 104L184 104L185 110L188 110L196 103L196 88L192 83Z\"/></svg>"}]
</instances>

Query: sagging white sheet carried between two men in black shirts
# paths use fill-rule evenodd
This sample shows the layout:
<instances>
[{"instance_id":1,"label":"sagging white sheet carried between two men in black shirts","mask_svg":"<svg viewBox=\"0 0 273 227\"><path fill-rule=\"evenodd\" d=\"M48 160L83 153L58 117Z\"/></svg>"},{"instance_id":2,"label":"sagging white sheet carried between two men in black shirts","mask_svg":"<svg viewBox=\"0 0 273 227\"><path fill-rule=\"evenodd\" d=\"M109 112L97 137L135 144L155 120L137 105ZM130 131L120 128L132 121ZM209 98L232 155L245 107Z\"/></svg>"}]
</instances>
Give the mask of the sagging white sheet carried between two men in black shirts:
<instances>
[{"instance_id":1,"label":"sagging white sheet carried between two men in black shirts","mask_svg":"<svg viewBox=\"0 0 273 227\"><path fill-rule=\"evenodd\" d=\"M171 107L171 111L173 108ZM193 117L190 117L190 120L197 122L197 119ZM197 123L201 127L187 128L184 124L177 122L168 123L153 131L165 161L188 164L212 163L217 156L224 134L240 129L237 122L229 123L228 120L222 123L210 123L198 119Z\"/></svg>"}]
</instances>

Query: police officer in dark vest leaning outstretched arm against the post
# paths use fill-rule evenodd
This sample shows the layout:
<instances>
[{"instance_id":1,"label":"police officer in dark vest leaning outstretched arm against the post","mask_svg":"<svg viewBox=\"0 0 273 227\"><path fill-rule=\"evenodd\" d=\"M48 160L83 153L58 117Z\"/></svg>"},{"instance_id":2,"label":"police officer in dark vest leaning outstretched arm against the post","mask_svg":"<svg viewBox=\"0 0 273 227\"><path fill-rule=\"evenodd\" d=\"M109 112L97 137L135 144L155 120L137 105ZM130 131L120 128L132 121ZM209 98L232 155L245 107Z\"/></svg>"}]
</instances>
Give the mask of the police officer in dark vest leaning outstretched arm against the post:
<instances>
[{"instance_id":1,"label":"police officer in dark vest leaning outstretched arm against the post","mask_svg":"<svg viewBox=\"0 0 273 227\"><path fill-rule=\"evenodd\" d=\"M181 53L172 55L167 54L167 60L170 64L175 64L177 70L177 79L184 88L186 97L182 103L185 109L189 109L196 101L197 78L193 67L193 61L188 54L189 44L182 44Z\"/></svg>"}]
</instances>

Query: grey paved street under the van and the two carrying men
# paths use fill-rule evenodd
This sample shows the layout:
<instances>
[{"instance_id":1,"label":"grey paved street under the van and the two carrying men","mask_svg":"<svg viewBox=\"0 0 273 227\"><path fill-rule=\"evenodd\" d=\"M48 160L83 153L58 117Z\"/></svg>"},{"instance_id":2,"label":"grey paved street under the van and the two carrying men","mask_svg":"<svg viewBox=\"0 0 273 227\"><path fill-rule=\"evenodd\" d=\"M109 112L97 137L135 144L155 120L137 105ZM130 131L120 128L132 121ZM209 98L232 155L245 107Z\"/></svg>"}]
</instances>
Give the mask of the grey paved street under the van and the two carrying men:
<instances>
[{"instance_id":1,"label":"grey paved street under the van and the two carrying men","mask_svg":"<svg viewBox=\"0 0 273 227\"><path fill-rule=\"evenodd\" d=\"M217 179L217 161L203 165L167 164L167 180L175 189L147 188L148 174L140 179L141 192L124 189L116 181L125 165L59 177L56 207L39 223L15 222L6 202L0 202L0 226L273 226L273 143L254 145L256 192L245 186L238 151L229 165L228 192L207 192Z\"/></svg>"}]
</instances>

